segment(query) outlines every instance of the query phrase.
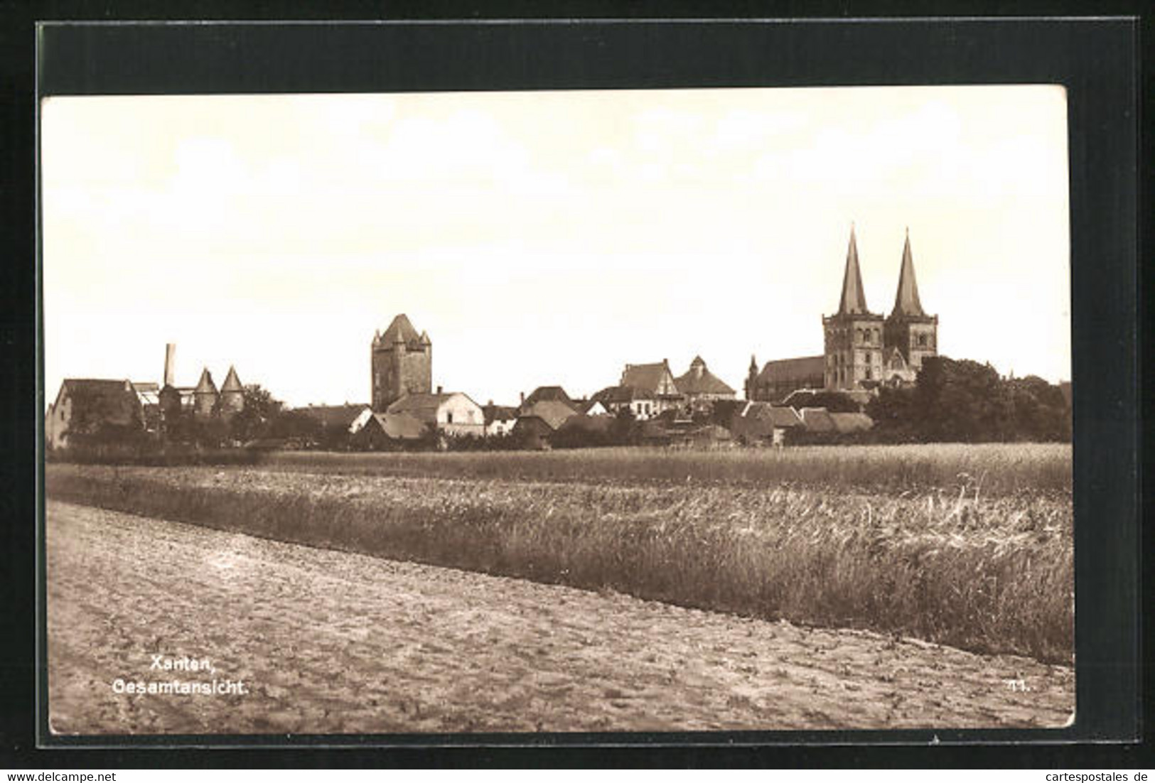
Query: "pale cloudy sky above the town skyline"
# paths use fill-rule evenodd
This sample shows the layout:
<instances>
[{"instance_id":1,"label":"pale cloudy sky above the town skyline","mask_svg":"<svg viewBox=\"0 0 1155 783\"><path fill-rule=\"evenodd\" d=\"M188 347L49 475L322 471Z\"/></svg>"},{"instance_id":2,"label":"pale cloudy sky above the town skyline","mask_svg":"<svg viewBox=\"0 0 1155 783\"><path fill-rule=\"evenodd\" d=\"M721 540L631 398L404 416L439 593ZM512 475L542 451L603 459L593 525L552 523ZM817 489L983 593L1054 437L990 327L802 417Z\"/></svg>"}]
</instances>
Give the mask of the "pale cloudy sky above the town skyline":
<instances>
[{"instance_id":1,"label":"pale cloudy sky above the town skyline","mask_svg":"<svg viewBox=\"0 0 1155 783\"><path fill-rule=\"evenodd\" d=\"M894 304L909 226L939 350L1071 376L1060 87L54 97L42 104L45 394L230 364L367 402L397 313L433 383L573 396L694 355L822 351L851 222Z\"/></svg>"}]
</instances>

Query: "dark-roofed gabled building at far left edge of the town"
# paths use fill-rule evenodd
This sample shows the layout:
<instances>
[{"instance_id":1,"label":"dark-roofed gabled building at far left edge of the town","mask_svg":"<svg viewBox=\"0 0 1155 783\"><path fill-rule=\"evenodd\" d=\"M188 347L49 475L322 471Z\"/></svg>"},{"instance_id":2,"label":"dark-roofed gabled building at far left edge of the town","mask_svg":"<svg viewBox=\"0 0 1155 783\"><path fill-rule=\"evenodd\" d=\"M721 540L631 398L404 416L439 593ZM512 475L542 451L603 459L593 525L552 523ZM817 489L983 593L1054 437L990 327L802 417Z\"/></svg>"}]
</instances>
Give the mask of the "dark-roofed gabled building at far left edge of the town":
<instances>
[{"instance_id":1,"label":"dark-roofed gabled building at far left edge of the town","mask_svg":"<svg viewBox=\"0 0 1155 783\"><path fill-rule=\"evenodd\" d=\"M69 378L49 407L44 441L47 448L60 449L74 445L77 435L143 428L144 411L132 381Z\"/></svg>"}]
</instances>

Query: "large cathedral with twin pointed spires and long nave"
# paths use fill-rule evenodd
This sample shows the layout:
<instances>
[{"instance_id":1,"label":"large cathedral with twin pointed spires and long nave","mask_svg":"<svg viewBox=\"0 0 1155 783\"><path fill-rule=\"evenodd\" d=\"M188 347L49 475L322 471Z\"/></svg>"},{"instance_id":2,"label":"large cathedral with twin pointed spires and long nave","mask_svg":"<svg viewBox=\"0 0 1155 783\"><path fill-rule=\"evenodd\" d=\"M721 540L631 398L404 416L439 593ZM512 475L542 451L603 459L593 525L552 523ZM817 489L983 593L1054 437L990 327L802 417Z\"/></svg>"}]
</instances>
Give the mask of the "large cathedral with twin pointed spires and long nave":
<instances>
[{"instance_id":1,"label":"large cathedral with twin pointed spires and long nave","mask_svg":"<svg viewBox=\"0 0 1155 783\"><path fill-rule=\"evenodd\" d=\"M907 232L894 308L884 316L866 307L858 246L850 226L850 246L842 276L842 298L834 315L822 316L822 356L768 361L761 372L751 357L746 398L778 402L798 389L870 390L884 383L912 383L923 359L938 353L938 316L927 315L918 299L915 262Z\"/></svg>"}]
</instances>

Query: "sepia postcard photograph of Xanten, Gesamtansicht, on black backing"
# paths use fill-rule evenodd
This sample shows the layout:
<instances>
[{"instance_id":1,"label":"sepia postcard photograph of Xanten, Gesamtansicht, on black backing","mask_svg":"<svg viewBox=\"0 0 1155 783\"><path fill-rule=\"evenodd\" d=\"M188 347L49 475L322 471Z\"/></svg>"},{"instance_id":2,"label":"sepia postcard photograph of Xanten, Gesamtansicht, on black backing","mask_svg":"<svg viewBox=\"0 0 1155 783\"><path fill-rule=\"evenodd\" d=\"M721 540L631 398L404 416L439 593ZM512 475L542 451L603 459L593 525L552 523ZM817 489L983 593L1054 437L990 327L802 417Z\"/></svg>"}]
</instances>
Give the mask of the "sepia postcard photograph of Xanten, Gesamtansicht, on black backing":
<instances>
[{"instance_id":1,"label":"sepia postcard photograph of Xanten, Gesamtansicht, on black backing","mask_svg":"<svg viewBox=\"0 0 1155 783\"><path fill-rule=\"evenodd\" d=\"M43 98L49 731L1070 726L1067 140L1060 84Z\"/></svg>"}]
</instances>

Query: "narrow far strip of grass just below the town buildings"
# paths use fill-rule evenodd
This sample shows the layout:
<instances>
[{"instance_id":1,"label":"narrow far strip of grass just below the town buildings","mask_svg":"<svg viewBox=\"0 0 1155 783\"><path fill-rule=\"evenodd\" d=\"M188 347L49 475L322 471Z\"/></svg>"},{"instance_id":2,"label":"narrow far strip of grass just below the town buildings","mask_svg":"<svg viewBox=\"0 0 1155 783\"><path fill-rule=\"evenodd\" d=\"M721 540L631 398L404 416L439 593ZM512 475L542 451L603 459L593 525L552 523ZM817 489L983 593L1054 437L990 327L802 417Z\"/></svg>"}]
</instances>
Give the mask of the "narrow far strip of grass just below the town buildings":
<instances>
[{"instance_id":1,"label":"narrow far strip of grass just below the town buildings","mask_svg":"<svg viewBox=\"0 0 1155 783\"><path fill-rule=\"evenodd\" d=\"M1071 492L1070 443L806 446L785 449L599 448L556 452L277 452L276 470L494 480L787 483L871 492L979 486L983 494Z\"/></svg>"}]
</instances>

